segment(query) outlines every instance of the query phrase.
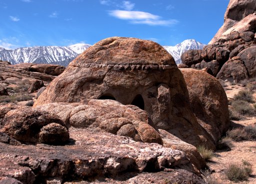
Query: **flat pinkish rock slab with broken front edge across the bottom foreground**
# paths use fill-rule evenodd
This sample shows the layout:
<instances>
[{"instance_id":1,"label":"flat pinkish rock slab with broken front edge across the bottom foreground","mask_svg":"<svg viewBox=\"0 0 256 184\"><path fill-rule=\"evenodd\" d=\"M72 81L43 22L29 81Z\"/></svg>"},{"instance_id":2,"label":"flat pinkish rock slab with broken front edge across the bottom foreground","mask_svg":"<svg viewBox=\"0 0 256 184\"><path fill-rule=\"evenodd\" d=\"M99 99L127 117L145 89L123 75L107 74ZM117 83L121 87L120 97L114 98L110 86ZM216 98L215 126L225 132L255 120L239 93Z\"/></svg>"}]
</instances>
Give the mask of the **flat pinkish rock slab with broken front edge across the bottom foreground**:
<instances>
[{"instance_id":1,"label":"flat pinkish rock slab with broken front edge across the bottom foreground","mask_svg":"<svg viewBox=\"0 0 256 184\"><path fill-rule=\"evenodd\" d=\"M126 181L142 172L150 174L166 169L184 169L191 175L194 172L181 151L86 129L70 128L69 133L71 139L66 146L0 143L0 179L14 178L23 184L52 180L64 183L100 177L114 179L125 174Z\"/></svg>"}]
</instances>

